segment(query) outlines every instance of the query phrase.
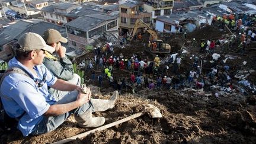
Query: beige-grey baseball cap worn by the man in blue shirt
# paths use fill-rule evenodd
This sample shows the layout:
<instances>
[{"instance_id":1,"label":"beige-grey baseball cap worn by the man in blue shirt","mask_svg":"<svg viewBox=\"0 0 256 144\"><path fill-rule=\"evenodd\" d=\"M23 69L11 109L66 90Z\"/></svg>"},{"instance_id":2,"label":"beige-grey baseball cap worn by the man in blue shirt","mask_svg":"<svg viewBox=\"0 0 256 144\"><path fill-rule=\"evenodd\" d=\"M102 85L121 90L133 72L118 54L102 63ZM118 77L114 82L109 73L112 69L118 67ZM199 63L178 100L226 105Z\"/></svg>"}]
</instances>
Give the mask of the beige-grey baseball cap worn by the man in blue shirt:
<instances>
[{"instance_id":1,"label":"beige-grey baseball cap worn by the man in blue shirt","mask_svg":"<svg viewBox=\"0 0 256 144\"><path fill-rule=\"evenodd\" d=\"M21 35L18 39L18 44L20 44L20 47L17 48L17 50L23 52L39 49L43 49L51 53L55 51L55 48L48 46L43 37L36 33L25 33Z\"/></svg>"}]
</instances>

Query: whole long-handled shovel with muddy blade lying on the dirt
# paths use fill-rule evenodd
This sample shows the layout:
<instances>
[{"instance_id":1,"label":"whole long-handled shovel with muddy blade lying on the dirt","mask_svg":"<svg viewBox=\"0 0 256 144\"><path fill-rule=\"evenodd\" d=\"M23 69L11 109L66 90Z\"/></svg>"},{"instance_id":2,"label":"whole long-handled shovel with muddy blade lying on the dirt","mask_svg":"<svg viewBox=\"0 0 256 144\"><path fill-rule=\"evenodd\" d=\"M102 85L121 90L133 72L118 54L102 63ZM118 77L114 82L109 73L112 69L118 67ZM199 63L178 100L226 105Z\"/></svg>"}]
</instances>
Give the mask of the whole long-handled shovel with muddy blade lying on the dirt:
<instances>
[{"instance_id":1,"label":"whole long-handled shovel with muddy blade lying on the dirt","mask_svg":"<svg viewBox=\"0 0 256 144\"><path fill-rule=\"evenodd\" d=\"M98 127L97 129L89 130L88 132L84 132L84 133L81 133L79 135L75 135L75 136L72 136L72 137L69 137L69 138L66 138L66 139L62 139L62 140L59 140L59 141L54 142L54 143L58 143L58 144L59 143L67 143L67 142L70 142L70 141L75 140L77 138L80 139L82 137L85 137L85 136L89 135L90 133L94 133L96 131L108 129L109 127L116 126L117 124L124 123L128 120L136 119L137 117L143 116L146 113L148 113L149 116L152 117L152 118L162 117L162 114L160 113L160 110L157 107L155 107L154 105L147 104L147 105L144 105L144 106L145 106L145 111L143 111L143 112L133 114L132 116L126 117L126 118L121 119L121 120L117 120L117 121L115 121L113 123L110 123L110 124L107 124L105 126Z\"/></svg>"}]
</instances>

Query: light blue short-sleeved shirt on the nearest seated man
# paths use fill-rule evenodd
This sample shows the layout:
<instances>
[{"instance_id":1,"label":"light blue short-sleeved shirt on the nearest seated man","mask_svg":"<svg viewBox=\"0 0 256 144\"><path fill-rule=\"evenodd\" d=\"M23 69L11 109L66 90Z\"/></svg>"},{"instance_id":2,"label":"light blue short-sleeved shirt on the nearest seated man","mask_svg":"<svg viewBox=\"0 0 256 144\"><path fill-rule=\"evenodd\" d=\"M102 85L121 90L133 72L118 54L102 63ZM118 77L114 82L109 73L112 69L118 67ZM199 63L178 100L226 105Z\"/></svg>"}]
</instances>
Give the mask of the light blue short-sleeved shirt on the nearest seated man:
<instances>
[{"instance_id":1,"label":"light blue short-sleeved shirt on the nearest seated man","mask_svg":"<svg viewBox=\"0 0 256 144\"><path fill-rule=\"evenodd\" d=\"M31 77L21 73L11 73L4 78L1 90L1 100L5 111L10 117L19 117L24 114L18 122L18 129L24 136L33 132L33 128L43 119L43 114L56 100L48 92L48 86L55 84L57 78L47 70L44 65L34 66L37 76L14 57L9 60L9 67L23 68L30 73ZM45 76L42 87L37 87L35 81L40 81Z\"/></svg>"}]
</instances>

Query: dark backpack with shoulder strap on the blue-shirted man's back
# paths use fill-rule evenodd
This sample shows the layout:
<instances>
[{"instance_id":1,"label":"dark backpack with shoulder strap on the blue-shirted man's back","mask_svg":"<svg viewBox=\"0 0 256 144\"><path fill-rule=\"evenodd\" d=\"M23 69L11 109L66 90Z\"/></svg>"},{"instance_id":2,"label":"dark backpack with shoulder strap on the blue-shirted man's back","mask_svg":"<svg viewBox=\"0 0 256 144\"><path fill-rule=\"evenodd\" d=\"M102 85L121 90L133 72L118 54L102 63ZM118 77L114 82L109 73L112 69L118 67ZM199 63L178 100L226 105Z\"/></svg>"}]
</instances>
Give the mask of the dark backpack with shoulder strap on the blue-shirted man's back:
<instances>
[{"instance_id":1,"label":"dark backpack with shoulder strap on the blue-shirted man's back","mask_svg":"<svg viewBox=\"0 0 256 144\"><path fill-rule=\"evenodd\" d=\"M21 73L22 75L28 76L28 74L25 71L23 71L23 69L21 69L21 68L16 68L16 67L9 68L4 73L0 73L0 88L1 88L1 84L2 84L2 81L4 80L5 76L8 76L11 73ZM30 76L28 76L28 77L30 77ZM17 127L18 120L21 117L23 117L24 114L25 114L25 112L23 114L21 114L20 117L17 117L17 118L9 117L8 114L4 110L4 105L2 104L2 100L0 97L0 129L2 129L4 132L7 132L7 133L13 132Z\"/></svg>"}]
</instances>

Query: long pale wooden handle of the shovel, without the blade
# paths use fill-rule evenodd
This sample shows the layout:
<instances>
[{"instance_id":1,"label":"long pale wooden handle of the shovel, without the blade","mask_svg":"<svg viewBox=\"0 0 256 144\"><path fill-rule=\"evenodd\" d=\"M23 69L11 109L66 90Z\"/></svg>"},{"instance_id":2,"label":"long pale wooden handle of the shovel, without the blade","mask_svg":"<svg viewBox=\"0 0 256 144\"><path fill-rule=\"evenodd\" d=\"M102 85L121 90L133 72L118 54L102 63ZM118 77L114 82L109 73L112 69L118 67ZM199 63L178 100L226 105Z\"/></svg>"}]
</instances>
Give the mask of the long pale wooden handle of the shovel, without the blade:
<instances>
[{"instance_id":1,"label":"long pale wooden handle of the shovel, without the blade","mask_svg":"<svg viewBox=\"0 0 256 144\"><path fill-rule=\"evenodd\" d=\"M126 122L128 120L136 119L137 117L143 116L144 114L146 114L146 113L145 112L136 113L136 114L133 114L132 116L126 117L124 119L115 121L115 122L107 124L105 126L98 127L97 129L89 130L88 132L84 132L84 133L81 133L79 135L75 135L75 136L72 136L72 137L69 137L69 138L66 138L66 139L59 140L57 142L54 142L53 144L71 142L72 140L75 140L77 138L80 139L82 137L85 137L85 136L89 135L90 133L94 133L96 131L108 129L110 127L116 126L117 124L124 123L124 122Z\"/></svg>"}]
</instances>

